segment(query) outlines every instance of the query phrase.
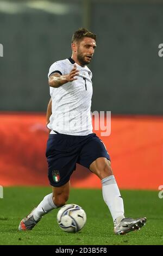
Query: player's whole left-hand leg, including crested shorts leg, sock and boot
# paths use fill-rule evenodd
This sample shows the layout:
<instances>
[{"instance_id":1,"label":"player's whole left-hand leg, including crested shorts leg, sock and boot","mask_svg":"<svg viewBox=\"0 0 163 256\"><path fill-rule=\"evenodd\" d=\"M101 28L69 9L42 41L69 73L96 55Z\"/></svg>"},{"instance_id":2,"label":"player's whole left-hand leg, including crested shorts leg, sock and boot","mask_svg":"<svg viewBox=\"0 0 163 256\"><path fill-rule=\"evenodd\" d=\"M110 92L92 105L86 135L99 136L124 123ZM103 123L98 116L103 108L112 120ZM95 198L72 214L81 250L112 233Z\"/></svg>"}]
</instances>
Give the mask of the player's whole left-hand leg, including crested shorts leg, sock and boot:
<instances>
[{"instance_id":1,"label":"player's whole left-hand leg, including crested shorts leg, sock and boot","mask_svg":"<svg viewBox=\"0 0 163 256\"><path fill-rule=\"evenodd\" d=\"M78 158L78 148L74 146L74 139L74 136L68 135L49 135L46 157L48 179L53 187L53 193L43 198L41 203L23 218L19 230L33 229L47 212L65 205L70 193L70 176L76 169Z\"/></svg>"}]
</instances>

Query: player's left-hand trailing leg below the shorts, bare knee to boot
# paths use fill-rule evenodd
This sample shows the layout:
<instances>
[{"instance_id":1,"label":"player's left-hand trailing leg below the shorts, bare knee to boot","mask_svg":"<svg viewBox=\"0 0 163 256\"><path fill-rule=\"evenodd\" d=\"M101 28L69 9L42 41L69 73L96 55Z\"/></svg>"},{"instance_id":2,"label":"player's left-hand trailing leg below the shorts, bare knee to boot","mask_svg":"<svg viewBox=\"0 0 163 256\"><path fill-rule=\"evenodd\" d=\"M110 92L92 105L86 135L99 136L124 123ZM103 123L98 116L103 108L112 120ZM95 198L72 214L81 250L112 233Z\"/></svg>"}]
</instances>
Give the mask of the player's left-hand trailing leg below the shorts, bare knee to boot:
<instances>
[{"instance_id":1,"label":"player's left-hand trailing leg below the shorts, bare knee to boot","mask_svg":"<svg viewBox=\"0 0 163 256\"><path fill-rule=\"evenodd\" d=\"M53 193L43 198L41 203L21 220L18 230L31 230L49 211L65 205L70 194L70 181L61 187L53 187Z\"/></svg>"}]
</instances>

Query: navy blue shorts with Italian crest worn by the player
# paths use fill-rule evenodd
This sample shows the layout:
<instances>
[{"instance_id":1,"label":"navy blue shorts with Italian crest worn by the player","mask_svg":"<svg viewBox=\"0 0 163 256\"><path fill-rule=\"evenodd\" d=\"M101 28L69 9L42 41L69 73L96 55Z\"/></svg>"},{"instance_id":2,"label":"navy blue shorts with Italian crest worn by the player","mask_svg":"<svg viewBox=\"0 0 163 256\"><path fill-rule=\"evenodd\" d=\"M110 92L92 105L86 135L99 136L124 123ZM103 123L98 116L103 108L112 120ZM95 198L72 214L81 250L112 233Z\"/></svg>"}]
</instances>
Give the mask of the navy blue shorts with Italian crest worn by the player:
<instances>
[{"instance_id":1,"label":"navy blue shorts with Italian crest worn by the player","mask_svg":"<svg viewBox=\"0 0 163 256\"><path fill-rule=\"evenodd\" d=\"M50 134L46 157L48 179L53 187L65 185L70 180L76 163L89 168L98 157L110 160L103 142L95 133L86 136Z\"/></svg>"}]
</instances>

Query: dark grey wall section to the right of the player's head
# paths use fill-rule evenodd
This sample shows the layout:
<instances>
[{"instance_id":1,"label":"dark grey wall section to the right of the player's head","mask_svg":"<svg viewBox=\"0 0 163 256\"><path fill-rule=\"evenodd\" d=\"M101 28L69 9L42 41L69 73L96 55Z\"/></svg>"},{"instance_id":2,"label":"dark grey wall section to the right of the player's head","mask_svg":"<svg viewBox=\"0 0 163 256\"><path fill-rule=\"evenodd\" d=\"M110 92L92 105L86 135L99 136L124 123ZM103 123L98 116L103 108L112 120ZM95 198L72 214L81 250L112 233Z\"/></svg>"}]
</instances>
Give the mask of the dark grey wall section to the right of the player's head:
<instances>
[{"instance_id":1,"label":"dark grey wall section to the right of the player's head","mask_svg":"<svg viewBox=\"0 0 163 256\"><path fill-rule=\"evenodd\" d=\"M162 4L94 4L93 108L163 114Z\"/></svg>"}]
</instances>

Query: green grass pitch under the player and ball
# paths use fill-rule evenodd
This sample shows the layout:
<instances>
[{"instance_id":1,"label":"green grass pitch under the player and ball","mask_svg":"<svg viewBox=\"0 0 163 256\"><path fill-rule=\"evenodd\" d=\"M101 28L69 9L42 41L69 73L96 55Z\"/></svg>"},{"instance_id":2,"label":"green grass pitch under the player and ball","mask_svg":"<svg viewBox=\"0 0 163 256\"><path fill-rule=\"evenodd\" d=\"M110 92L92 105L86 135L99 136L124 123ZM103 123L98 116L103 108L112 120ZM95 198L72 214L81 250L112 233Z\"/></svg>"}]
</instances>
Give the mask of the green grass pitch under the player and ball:
<instances>
[{"instance_id":1,"label":"green grass pitch under the player and ball","mask_svg":"<svg viewBox=\"0 0 163 256\"><path fill-rule=\"evenodd\" d=\"M163 199L157 191L121 191L127 217L147 217L139 231L123 236L113 233L113 223L101 190L72 189L67 203L82 206L85 227L75 234L57 224L58 209L49 212L31 231L18 231L21 219L40 203L51 187L4 188L0 199L0 245L163 245Z\"/></svg>"}]
</instances>

